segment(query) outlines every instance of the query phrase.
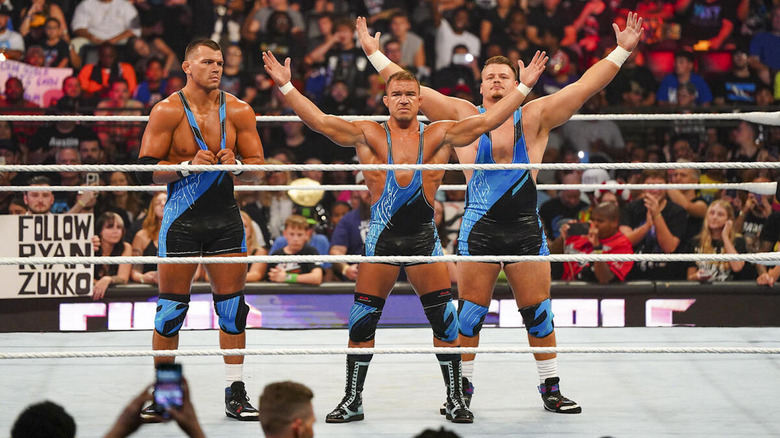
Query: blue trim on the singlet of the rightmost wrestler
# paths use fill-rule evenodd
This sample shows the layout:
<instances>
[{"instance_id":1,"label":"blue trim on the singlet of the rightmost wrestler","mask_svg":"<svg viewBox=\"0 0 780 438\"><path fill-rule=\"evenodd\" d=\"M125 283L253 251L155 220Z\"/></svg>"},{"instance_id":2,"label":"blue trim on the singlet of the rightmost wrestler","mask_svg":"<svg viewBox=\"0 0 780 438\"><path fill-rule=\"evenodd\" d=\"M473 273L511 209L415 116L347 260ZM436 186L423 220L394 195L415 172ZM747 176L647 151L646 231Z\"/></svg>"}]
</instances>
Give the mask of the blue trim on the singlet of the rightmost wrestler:
<instances>
[{"instance_id":1,"label":"blue trim on the singlet of the rightmost wrestler","mask_svg":"<svg viewBox=\"0 0 780 438\"><path fill-rule=\"evenodd\" d=\"M480 114L486 111L483 106L479 106L478 109ZM522 123L521 108L515 110L513 122L515 127L518 123ZM493 159L493 141L490 138L489 132L482 134L479 137L477 156L474 163L495 164L495 160ZM516 163L530 164L528 149L525 144L525 136L522 134L519 138L515 139L512 164ZM474 170L471 179L466 185L466 208L463 214L460 231L461 236L464 238L458 240L459 245L465 245L466 247L459 249L459 251L468 253L468 242L465 237L471 233L471 229L477 221L479 221L507 191L512 189L513 195L517 193L518 190L528 183L530 176L531 173L525 169ZM512 186L514 186L514 188L512 188Z\"/></svg>"}]
</instances>

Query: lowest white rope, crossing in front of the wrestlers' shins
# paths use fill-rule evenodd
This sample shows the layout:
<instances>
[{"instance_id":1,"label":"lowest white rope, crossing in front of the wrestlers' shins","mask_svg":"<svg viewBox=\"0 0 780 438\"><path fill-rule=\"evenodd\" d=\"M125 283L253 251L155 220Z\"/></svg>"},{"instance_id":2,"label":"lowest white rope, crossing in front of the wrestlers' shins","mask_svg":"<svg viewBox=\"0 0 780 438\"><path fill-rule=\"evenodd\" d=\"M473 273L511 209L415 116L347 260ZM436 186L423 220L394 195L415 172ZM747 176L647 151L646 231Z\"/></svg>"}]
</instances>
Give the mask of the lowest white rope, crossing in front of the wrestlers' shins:
<instances>
[{"instance_id":1,"label":"lowest white rope, crossing in front of the wrestlers' shins","mask_svg":"<svg viewBox=\"0 0 780 438\"><path fill-rule=\"evenodd\" d=\"M0 359L75 359L98 357L181 356L298 356L312 354L780 354L775 347L420 347L420 348L287 348L287 349L203 349L203 350L117 350L0 353Z\"/></svg>"}]
</instances>

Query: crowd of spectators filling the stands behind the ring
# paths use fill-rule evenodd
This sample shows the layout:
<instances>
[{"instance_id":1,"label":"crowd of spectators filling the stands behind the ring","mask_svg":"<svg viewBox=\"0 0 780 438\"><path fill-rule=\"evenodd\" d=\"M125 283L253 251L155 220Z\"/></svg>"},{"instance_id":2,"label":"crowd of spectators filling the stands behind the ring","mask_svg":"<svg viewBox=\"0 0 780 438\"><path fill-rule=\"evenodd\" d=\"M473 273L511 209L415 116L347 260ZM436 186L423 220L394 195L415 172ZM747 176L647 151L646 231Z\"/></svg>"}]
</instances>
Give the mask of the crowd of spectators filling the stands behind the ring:
<instances>
[{"instance_id":1,"label":"crowd of spectators filling the stands behind the ring","mask_svg":"<svg viewBox=\"0 0 780 438\"><path fill-rule=\"evenodd\" d=\"M0 1L0 59L41 67L64 67L73 74L43 107L25 99L24 84L9 77L0 97L4 114L148 114L156 102L180 89L180 59L186 44L209 37L223 47L221 88L250 103L259 115L290 114L278 89L260 65L261 51L293 58L293 84L326 113L385 114L384 84L355 39L355 16L366 16L382 32L387 56L415 72L424 85L480 100L480 67L490 56L528 60L537 49L550 56L529 99L554 93L576 81L615 45L611 24L628 11L645 20L645 40L613 82L590 99L583 113L675 112L703 109L776 110L780 100L780 2L777 0L562 1L562 0L82 0L80 2ZM340 148L302 123L258 124L268 163L349 163L353 151ZM143 134L140 123L0 122L0 153L7 164L134 163ZM545 162L776 161L780 128L748 122L672 123L572 121L551 133ZM454 157L453 157L454 161ZM755 170L610 171L598 182L724 183L775 181ZM591 174L592 176L593 174ZM4 172L0 185L134 185L131 174ZM323 184L360 183L350 172L268 172L263 184L282 185L306 177ZM32 178L32 179L31 179ZM43 179L42 179L43 178ZM576 184L581 172L539 173L538 183ZM445 183L462 183L448 172ZM252 254L359 254L368 220L366 192L327 192L312 205L285 191L245 192ZM616 195L617 194L617 195ZM161 201L162 199L162 201ZM606 199L606 201L605 201ZM463 214L462 192L437 196L437 226L448 253L456 253ZM711 205L724 200L732 210L729 227L709 230ZM122 239L135 255L154 255L164 196L142 192L0 192L2 213L114 213ZM599 205L614 202L617 209ZM621 233L634 252L771 250L780 241L780 204L770 196L717 190L539 192L550 246L566 252L599 251L599 240ZM617 211L615 211L617 210ZM736 213L736 214L734 214ZM615 223L615 214L618 222ZM777 217L776 217L777 216ZM301 217L306 225L302 225ZM291 219L292 218L292 219ZM571 236L569 221L594 230ZM778 224L774 224L774 222ZM774 232L774 237L762 231ZM251 230L251 232L249 232ZM103 230L96 230L100 235ZM289 232L289 233L288 233ZM299 244L299 234L306 242ZM290 235L295 235L291 242ZM741 235L743 240L734 240ZM702 239L720 240L720 243ZM723 239L731 239L726 243ZM623 242L622 239L619 239ZM704 242L704 243L702 243ZM738 244L734 244L736 242ZM767 243L768 242L768 243ZM102 242L99 246L105 246ZM621 245L621 248L624 245ZM121 246L114 246L113 249ZM97 247L96 247L97 248ZM109 247L105 246L104 250ZM604 248L606 252L607 249ZM122 252L125 252L124 250ZM711 268L664 263L633 266L561 266L557 278L600 282L632 278L704 280ZM253 281L354 281L356 265L250 267ZM564 271L565 273L562 272ZM587 268L587 269L586 269ZM708 278L747 278L764 283L780 271L726 269ZM301 270L303 269L303 270ZM591 272L592 271L592 272ZM728 271L728 272L727 272ZM124 272L124 271L123 271ZM321 276L316 274L321 272ZM727 272L727 274L726 274ZM593 275L591 275L591 273ZM299 276L300 275L300 276ZM583 277L584 276L584 277ZM725 276L725 277L724 277ZM116 275L102 275L112 283ZM135 266L122 281L156 283L154 266ZM314 277L314 278L312 278ZM102 284L102 283L101 283Z\"/></svg>"}]
</instances>

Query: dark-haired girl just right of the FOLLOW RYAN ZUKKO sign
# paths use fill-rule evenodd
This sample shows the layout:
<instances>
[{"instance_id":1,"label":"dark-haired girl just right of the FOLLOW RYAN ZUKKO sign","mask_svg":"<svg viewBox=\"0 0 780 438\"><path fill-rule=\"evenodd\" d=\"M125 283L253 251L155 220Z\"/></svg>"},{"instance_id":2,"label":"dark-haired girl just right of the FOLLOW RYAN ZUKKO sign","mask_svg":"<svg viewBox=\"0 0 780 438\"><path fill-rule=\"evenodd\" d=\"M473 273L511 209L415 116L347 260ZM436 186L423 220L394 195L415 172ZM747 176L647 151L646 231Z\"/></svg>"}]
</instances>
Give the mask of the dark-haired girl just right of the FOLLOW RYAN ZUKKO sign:
<instances>
[{"instance_id":1,"label":"dark-haired girl just right of the FOLLOW RYAN ZUKKO sign","mask_svg":"<svg viewBox=\"0 0 780 438\"><path fill-rule=\"evenodd\" d=\"M122 218L112 212L105 212L95 220L95 235L92 247L96 257L130 257L133 248L123 240L125 223ZM127 284L132 266L129 263L121 265L95 265L92 299L99 300L106 295L106 290L113 284Z\"/></svg>"}]
</instances>

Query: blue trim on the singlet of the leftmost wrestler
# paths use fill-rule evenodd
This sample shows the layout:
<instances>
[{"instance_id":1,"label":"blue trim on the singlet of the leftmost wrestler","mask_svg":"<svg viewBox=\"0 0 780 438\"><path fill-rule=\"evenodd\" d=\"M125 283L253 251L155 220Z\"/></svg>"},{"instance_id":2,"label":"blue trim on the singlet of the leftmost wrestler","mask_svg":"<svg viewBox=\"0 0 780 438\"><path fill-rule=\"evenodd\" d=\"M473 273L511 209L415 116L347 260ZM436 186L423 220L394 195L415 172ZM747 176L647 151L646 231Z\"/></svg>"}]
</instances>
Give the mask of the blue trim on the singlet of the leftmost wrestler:
<instances>
[{"instance_id":1,"label":"blue trim on the singlet of the leftmost wrestler","mask_svg":"<svg viewBox=\"0 0 780 438\"><path fill-rule=\"evenodd\" d=\"M187 116L187 122L192 129L192 134L195 136L195 143L198 147L204 151L209 150L203 135L201 134L198 122L195 120L195 115L192 114L190 104L184 97L184 93L178 91L179 99L181 99L182 106L184 107L184 114ZM219 129L220 140L219 148L225 149L226 143L226 104L225 104L225 92L219 92ZM225 171L209 171L201 173L192 173L189 176L168 183L168 200L165 202L165 209L163 211L163 221L160 227L160 237L158 239L157 254L159 257L165 257L167 248L167 234L171 224L190 208L195 201L198 200L204 193L211 187L217 180L221 181L225 176Z\"/></svg>"}]
</instances>

